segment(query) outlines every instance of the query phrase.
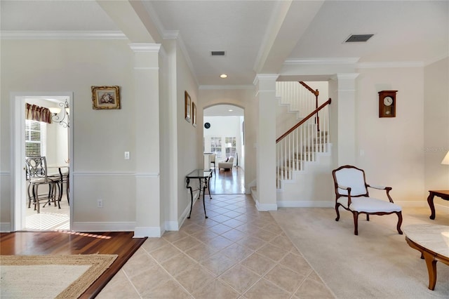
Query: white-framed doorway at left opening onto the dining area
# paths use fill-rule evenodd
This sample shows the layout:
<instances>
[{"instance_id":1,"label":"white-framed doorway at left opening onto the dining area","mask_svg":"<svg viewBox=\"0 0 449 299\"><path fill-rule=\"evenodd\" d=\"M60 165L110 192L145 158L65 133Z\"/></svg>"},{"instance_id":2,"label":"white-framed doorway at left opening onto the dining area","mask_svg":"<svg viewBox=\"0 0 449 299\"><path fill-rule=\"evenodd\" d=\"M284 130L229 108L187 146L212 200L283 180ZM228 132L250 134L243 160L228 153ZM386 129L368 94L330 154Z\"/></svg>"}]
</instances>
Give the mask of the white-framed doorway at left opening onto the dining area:
<instances>
[{"instance_id":1,"label":"white-framed doorway at left opening onto the dining area","mask_svg":"<svg viewBox=\"0 0 449 299\"><path fill-rule=\"evenodd\" d=\"M11 107L13 107L13 231L18 230L70 230L72 227L72 206L67 197L72 199L72 190L64 187L60 201L61 208L46 205L38 214L34 211L34 204L28 208L27 175L25 171L25 157L28 155L42 155L47 158L49 166L66 165L72 168L72 136L73 126L69 122L30 120L25 116L26 109L58 108L67 112L67 117L73 117L72 93L13 93ZM32 106L34 105L34 106ZM61 108L62 107L62 108ZM66 109L67 107L67 109ZM29 111L27 110L29 115ZM51 118L58 120L62 113L51 112ZM55 116L56 118L54 118ZM65 119L67 120L67 119ZM27 131L28 130L28 131ZM31 145L30 145L31 142ZM30 148L32 150L30 150ZM58 173L58 168L51 171ZM69 182L72 182L72 171L69 172Z\"/></svg>"}]
</instances>

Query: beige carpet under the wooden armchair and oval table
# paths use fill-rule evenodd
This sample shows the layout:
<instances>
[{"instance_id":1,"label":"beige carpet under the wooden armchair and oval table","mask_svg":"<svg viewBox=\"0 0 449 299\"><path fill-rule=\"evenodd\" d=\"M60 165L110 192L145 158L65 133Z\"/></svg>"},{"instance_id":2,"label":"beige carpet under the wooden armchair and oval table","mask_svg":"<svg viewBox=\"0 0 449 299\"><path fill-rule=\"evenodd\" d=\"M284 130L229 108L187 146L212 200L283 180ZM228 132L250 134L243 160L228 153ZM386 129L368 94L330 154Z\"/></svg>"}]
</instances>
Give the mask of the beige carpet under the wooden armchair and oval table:
<instances>
[{"instance_id":1,"label":"beige carpet under the wooden armchair and oval table","mask_svg":"<svg viewBox=\"0 0 449 299\"><path fill-rule=\"evenodd\" d=\"M449 266L437 263L435 291L420 252L396 231L396 215L360 216L334 208L280 208L270 212L337 298L449 298ZM413 223L449 225L448 213L429 219L429 208L403 208L402 227Z\"/></svg>"}]
</instances>

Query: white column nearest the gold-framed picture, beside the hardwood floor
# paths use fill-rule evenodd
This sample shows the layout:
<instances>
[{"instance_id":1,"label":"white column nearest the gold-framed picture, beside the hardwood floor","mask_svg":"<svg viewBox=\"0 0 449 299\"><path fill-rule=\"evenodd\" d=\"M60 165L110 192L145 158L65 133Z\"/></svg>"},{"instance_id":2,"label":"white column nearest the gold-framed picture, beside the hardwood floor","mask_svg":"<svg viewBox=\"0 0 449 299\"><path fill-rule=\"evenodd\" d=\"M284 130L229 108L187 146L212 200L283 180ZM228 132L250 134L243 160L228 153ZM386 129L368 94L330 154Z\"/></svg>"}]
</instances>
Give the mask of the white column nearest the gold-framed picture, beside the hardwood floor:
<instances>
[{"instance_id":1,"label":"white column nearest the gold-framed picture, beside the hardwood floor","mask_svg":"<svg viewBox=\"0 0 449 299\"><path fill-rule=\"evenodd\" d=\"M159 184L160 44L130 44L134 51L135 237L161 237Z\"/></svg>"}]
</instances>

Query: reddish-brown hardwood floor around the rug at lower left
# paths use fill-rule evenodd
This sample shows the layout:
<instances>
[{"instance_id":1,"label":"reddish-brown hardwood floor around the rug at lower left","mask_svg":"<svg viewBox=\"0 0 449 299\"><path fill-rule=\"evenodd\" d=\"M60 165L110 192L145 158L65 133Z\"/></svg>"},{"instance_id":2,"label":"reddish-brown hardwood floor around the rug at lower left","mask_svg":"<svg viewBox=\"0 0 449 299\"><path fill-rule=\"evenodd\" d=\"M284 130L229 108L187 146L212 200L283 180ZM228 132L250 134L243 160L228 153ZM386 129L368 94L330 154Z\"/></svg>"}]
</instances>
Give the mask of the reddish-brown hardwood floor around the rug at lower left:
<instances>
[{"instance_id":1,"label":"reddish-brown hardwood floor around the rug at lower left","mask_svg":"<svg viewBox=\"0 0 449 299\"><path fill-rule=\"evenodd\" d=\"M147 238L133 232L11 232L0 234L1 255L116 254L111 267L80 298L95 298Z\"/></svg>"}]
</instances>

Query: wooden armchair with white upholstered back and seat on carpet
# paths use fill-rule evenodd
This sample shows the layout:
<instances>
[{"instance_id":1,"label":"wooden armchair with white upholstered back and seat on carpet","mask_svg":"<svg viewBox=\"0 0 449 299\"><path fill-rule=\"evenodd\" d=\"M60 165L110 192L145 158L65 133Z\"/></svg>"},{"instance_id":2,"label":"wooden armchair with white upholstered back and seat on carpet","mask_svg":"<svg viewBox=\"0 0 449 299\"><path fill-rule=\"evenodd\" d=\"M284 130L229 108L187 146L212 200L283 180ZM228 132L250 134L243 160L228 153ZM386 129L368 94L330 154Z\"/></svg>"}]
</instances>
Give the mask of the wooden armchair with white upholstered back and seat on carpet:
<instances>
[{"instance_id":1,"label":"wooden armchair with white upholstered back and seat on carpet","mask_svg":"<svg viewBox=\"0 0 449 299\"><path fill-rule=\"evenodd\" d=\"M389 192L391 187L371 186L366 183L365 171L355 166L345 165L332 171L335 185L335 211L340 220L338 208L342 206L354 215L354 234L358 234L358 215L366 214L366 220L370 220L370 215L388 215L396 213L398 224L396 229L402 234L402 209L394 204ZM368 187L378 190L385 190L389 201L375 199L368 194Z\"/></svg>"}]
</instances>

